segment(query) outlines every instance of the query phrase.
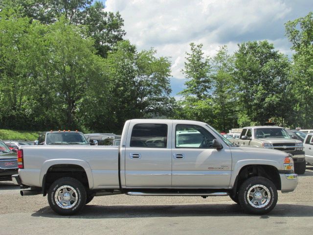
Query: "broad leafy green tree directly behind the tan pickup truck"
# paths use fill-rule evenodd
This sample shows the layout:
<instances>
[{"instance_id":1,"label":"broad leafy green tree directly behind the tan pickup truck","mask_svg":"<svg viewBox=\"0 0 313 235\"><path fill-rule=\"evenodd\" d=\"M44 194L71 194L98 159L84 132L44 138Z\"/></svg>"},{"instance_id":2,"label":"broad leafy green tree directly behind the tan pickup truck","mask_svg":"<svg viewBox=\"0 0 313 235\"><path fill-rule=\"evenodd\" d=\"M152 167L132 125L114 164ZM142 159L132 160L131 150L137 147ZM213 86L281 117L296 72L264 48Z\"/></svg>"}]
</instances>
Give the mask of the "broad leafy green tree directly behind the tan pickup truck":
<instances>
[{"instance_id":1,"label":"broad leafy green tree directly behind the tan pickup truck","mask_svg":"<svg viewBox=\"0 0 313 235\"><path fill-rule=\"evenodd\" d=\"M263 124L272 117L286 124L293 102L287 56L274 50L268 41L238 46L234 75L240 94L240 116L254 124Z\"/></svg>"}]
</instances>

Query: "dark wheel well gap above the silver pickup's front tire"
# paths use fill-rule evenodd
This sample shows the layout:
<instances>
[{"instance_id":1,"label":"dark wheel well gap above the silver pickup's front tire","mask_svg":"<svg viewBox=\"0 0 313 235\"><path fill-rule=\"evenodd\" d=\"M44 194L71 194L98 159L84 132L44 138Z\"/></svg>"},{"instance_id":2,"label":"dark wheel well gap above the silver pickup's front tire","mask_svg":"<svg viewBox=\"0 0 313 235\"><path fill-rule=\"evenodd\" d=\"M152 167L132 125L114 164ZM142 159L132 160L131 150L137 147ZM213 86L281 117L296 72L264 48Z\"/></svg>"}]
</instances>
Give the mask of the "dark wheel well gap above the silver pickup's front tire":
<instances>
[{"instance_id":1,"label":"dark wheel well gap above the silver pickup's front tire","mask_svg":"<svg viewBox=\"0 0 313 235\"><path fill-rule=\"evenodd\" d=\"M274 183L278 190L281 190L281 182L278 169L272 165L245 165L240 169L236 178L233 193L236 194L241 184L253 176L262 176Z\"/></svg>"}]
</instances>

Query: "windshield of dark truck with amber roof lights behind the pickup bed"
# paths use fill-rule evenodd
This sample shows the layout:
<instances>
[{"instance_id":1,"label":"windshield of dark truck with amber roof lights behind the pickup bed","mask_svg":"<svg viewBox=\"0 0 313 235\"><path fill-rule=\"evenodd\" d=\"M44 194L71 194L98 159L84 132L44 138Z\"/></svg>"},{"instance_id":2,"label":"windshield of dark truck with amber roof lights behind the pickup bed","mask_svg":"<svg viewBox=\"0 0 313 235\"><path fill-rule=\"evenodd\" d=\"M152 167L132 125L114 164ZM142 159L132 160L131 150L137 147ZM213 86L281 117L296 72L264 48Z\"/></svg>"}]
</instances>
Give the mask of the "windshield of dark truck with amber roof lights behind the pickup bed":
<instances>
[{"instance_id":1,"label":"windshield of dark truck with amber roof lights behind the pickup bed","mask_svg":"<svg viewBox=\"0 0 313 235\"><path fill-rule=\"evenodd\" d=\"M46 136L46 144L89 144L82 133L56 132Z\"/></svg>"}]
</instances>

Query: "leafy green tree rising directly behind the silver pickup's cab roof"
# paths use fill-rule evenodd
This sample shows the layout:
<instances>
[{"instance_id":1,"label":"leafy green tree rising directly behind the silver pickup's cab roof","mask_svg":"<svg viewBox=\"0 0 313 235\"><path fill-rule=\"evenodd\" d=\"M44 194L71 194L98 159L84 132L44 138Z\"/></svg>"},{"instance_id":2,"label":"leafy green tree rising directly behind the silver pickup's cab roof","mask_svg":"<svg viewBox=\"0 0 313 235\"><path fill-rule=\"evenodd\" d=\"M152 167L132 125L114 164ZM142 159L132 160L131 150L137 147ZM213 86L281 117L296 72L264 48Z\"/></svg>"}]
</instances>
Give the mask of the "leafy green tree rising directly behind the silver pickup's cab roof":
<instances>
[{"instance_id":1,"label":"leafy green tree rising directly behind the silver pickup's cab roof","mask_svg":"<svg viewBox=\"0 0 313 235\"><path fill-rule=\"evenodd\" d=\"M127 119L168 115L170 62L156 57L156 51L137 51L129 41L116 44L105 60L107 93L94 90L96 107L86 110L86 126L100 131L120 131ZM89 96L89 103L92 97ZM89 113L91 112L91 113ZM92 118L90 118L92 117Z\"/></svg>"}]
</instances>

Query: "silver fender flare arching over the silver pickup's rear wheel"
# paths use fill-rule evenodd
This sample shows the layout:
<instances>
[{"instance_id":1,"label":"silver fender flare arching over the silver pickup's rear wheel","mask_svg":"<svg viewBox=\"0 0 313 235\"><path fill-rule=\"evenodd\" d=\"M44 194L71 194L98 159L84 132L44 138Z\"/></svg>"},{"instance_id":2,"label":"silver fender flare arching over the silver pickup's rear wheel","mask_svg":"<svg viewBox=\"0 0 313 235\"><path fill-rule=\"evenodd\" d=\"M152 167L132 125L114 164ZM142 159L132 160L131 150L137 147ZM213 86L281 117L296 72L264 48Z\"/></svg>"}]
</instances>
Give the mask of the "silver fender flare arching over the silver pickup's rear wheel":
<instances>
[{"instance_id":1,"label":"silver fender flare arching over the silver pickup's rear wheel","mask_svg":"<svg viewBox=\"0 0 313 235\"><path fill-rule=\"evenodd\" d=\"M53 165L62 165L62 164L72 164L72 165L79 165L83 167L87 175L89 188L90 189L93 188L93 177L92 177L90 165L87 162L83 160L78 160L78 159L52 159L52 160L45 161L40 171L39 184L41 187L43 187L43 180L48 169Z\"/></svg>"}]
</instances>

